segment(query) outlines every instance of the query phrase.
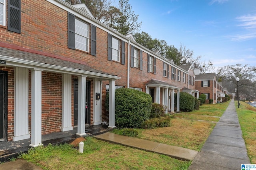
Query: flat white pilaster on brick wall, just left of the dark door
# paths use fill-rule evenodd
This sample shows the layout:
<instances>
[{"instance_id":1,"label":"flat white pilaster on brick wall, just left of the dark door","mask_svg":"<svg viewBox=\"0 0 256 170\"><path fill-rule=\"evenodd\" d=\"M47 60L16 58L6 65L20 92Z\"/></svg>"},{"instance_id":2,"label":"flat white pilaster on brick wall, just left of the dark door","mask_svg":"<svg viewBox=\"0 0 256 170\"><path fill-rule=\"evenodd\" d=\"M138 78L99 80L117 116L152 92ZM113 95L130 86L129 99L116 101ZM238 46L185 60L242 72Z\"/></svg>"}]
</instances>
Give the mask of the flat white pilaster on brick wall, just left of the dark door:
<instances>
[{"instance_id":1,"label":"flat white pilaster on brick wall, just left of the dark door","mask_svg":"<svg viewBox=\"0 0 256 170\"><path fill-rule=\"evenodd\" d=\"M61 131L71 131L72 112L71 112L71 74L62 74L62 125Z\"/></svg>"}]
</instances>

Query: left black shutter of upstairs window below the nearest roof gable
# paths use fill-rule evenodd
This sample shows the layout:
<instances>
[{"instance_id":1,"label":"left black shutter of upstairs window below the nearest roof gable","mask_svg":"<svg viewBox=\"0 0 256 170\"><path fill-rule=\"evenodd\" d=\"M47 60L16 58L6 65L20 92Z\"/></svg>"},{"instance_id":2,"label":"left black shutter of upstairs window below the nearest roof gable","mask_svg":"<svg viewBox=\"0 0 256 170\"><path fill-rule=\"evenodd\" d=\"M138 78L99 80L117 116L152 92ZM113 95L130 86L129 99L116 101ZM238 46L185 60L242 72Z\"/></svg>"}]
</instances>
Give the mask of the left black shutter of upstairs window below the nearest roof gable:
<instances>
[{"instance_id":1,"label":"left black shutter of upstairs window below the nearest roof gable","mask_svg":"<svg viewBox=\"0 0 256 170\"><path fill-rule=\"evenodd\" d=\"M75 47L75 15L68 12L68 48Z\"/></svg>"}]
</instances>

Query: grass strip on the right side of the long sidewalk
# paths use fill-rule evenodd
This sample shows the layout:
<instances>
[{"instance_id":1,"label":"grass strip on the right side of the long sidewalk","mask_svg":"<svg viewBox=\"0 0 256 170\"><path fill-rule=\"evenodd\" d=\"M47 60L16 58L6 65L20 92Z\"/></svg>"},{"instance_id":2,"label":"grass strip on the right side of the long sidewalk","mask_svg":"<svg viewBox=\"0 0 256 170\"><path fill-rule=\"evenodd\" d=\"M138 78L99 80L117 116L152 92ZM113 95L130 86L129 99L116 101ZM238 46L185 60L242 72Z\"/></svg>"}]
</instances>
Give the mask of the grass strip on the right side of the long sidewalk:
<instances>
[{"instance_id":1,"label":"grass strip on the right side of the long sidewalk","mask_svg":"<svg viewBox=\"0 0 256 170\"><path fill-rule=\"evenodd\" d=\"M251 164L256 164L256 111L236 108Z\"/></svg>"}]
</instances>

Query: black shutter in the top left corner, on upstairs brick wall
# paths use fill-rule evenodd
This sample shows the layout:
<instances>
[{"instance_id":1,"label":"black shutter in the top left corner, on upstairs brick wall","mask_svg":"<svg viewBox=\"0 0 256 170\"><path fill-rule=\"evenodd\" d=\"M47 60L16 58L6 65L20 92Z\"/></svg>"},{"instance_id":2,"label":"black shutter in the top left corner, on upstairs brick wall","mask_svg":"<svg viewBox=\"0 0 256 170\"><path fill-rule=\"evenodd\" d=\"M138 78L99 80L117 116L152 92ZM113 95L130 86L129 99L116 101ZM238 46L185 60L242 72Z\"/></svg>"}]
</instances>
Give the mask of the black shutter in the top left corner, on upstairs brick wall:
<instances>
[{"instance_id":1,"label":"black shutter in the top left corner, on upstairs brick wall","mask_svg":"<svg viewBox=\"0 0 256 170\"><path fill-rule=\"evenodd\" d=\"M20 0L8 0L8 30L20 33Z\"/></svg>"}]
</instances>

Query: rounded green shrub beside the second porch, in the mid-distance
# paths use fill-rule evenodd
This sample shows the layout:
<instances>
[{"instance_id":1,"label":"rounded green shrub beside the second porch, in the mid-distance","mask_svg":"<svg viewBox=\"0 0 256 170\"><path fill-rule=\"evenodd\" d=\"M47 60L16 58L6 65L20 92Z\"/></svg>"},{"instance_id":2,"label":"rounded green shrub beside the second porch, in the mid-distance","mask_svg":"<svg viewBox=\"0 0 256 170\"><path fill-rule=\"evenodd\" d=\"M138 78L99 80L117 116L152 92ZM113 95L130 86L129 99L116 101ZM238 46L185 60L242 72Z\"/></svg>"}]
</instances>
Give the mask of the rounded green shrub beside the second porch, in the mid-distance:
<instances>
[{"instance_id":1,"label":"rounded green shrub beside the second porch, in the mid-distance","mask_svg":"<svg viewBox=\"0 0 256 170\"><path fill-rule=\"evenodd\" d=\"M174 97L177 98L175 95ZM174 99L174 103L177 101ZM185 92L180 92L180 111L192 111L195 106L195 100L194 96L185 93Z\"/></svg>"}]
</instances>

